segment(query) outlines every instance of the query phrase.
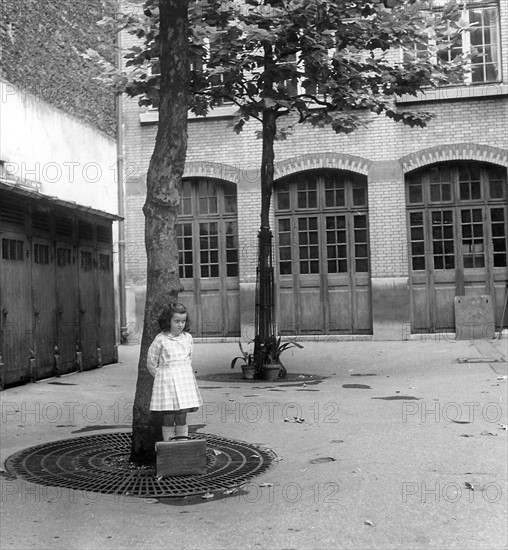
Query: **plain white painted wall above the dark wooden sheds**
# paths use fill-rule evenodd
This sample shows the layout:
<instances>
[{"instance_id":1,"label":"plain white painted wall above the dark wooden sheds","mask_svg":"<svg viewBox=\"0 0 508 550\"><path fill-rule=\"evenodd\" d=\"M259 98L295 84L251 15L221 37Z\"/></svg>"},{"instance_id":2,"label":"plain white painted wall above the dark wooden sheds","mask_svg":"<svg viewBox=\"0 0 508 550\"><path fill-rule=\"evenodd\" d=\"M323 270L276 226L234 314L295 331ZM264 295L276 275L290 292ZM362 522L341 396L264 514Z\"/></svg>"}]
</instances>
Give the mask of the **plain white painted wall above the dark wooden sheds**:
<instances>
[{"instance_id":1,"label":"plain white painted wall above the dark wooden sheds","mask_svg":"<svg viewBox=\"0 0 508 550\"><path fill-rule=\"evenodd\" d=\"M0 80L4 176L44 195L118 213L116 141Z\"/></svg>"}]
</instances>

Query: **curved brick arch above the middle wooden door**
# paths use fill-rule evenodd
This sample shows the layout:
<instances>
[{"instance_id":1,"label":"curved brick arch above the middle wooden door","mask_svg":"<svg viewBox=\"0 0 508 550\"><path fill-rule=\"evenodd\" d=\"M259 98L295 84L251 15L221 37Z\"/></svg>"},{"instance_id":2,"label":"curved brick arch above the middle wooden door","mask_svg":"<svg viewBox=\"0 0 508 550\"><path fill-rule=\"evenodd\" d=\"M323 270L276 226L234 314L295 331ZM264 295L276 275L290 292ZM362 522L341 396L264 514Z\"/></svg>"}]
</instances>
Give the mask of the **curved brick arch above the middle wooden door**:
<instances>
[{"instance_id":1,"label":"curved brick arch above the middle wooden door","mask_svg":"<svg viewBox=\"0 0 508 550\"><path fill-rule=\"evenodd\" d=\"M372 161L366 158L345 153L308 153L276 162L274 179L320 168L345 170L366 176L371 164Z\"/></svg>"}]
</instances>

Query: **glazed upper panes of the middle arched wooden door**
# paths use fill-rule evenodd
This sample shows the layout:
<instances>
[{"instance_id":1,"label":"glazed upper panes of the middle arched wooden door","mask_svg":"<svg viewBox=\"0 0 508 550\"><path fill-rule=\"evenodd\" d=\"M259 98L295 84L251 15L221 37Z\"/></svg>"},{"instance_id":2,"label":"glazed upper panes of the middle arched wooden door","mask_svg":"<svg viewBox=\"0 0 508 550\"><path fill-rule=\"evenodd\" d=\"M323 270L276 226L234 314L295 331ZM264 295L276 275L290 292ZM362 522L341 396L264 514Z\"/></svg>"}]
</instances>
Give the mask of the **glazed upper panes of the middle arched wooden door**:
<instances>
[{"instance_id":1,"label":"glazed upper panes of the middle arched wooden door","mask_svg":"<svg viewBox=\"0 0 508 550\"><path fill-rule=\"evenodd\" d=\"M347 172L317 171L277 184L281 275L368 272L364 180Z\"/></svg>"}]
</instances>

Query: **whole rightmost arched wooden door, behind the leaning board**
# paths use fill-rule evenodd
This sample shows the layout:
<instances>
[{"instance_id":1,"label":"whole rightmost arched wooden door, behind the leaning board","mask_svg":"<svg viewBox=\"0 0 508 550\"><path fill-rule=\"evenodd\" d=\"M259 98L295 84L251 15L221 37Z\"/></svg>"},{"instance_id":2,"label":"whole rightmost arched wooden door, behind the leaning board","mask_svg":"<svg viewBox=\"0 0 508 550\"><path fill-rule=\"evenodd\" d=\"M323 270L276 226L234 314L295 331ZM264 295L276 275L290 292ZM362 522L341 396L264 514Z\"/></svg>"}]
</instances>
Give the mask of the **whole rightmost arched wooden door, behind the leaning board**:
<instances>
[{"instance_id":1,"label":"whole rightmost arched wooden door, behind the leaning board","mask_svg":"<svg viewBox=\"0 0 508 550\"><path fill-rule=\"evenodd\" d=\"M508 280L506 169L439 164L406 181L413 332L454 330L454 297L463 295L491 295L497 328Z\"/></svg>"}]
</instances>

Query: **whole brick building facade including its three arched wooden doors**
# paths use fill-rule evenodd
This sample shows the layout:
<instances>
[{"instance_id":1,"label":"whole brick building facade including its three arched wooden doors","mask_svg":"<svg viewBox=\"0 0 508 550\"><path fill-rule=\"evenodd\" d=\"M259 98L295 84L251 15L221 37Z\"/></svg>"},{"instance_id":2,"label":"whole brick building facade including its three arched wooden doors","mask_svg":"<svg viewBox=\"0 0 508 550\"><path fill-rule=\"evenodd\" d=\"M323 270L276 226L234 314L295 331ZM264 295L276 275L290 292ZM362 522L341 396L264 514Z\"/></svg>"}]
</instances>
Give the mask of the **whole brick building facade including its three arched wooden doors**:
<instances>
[{"instance_id":1,"label":"whole brick building facade including its three arched wooden doors","mask_svg":"<svg viewBox=\"0 0 508 550\"><path fill-rule=\"evenodd\" d=\"M490 295L495 326L508 280L508 5L486 16L494 76L399 104L435 114L426 128L366 115L350 135L296 125L275 147L276 316L281 334L400 339L455 332L454 297ZM473 12L471 12L473 13ZM493 22L493 18L496 18ZM485 21L485 18L484 20ZM189 117L180 276L199 336L253 334L261 142L233 108ZM157 111L124 102L127 319L141 327L142 206Z\"/></svg>"}]
</instances>

